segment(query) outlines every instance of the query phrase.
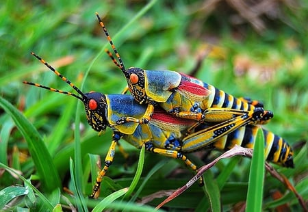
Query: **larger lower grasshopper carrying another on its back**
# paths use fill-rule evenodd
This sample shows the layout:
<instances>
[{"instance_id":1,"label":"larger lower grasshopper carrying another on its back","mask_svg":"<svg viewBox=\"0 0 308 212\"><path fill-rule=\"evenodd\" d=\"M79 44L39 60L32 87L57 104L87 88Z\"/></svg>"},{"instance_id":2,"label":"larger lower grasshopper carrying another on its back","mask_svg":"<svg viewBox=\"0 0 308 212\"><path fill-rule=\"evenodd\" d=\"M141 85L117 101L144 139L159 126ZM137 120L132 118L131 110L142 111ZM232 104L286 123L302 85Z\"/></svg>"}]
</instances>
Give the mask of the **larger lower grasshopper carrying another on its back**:
<instances>
[{"instance_id":1,"label":"larger lower grasshopper carrying another on its back","mask_svg":"<svg viewBox=\"0 0 308 212\"><path fill-rule=\"evenodd\" d=\"M118 120L123 116L130 116L136 119L142 118L146 112L146 105L140 105L134 101L133 97L130 95L106 95L99 92L84 94L81 90L79 90L79 88L66 79L66 77L62 76L60 72L55 70L55 68L50 66L41 57L34 53L31 54L39 59L42 64L52 70L55 75L68 83L80 96L71 92L49 88L38 83L31 83L27 81L24 81L24 83L78 98L84 103L86 118L90 126L95 131L101 133L105 131L106 127L110 127L113 131L112 144L110 145L105 157L104 167L101 172L99 172L99 176L97 177L97 181L94 185L91 195L92 198L97 198L99 196L101 181L114 160L116 144L118 144L120 138L123 138L123 140L129 142L129 144L135 146L136 148L141 148L144 145L146 150L153 153L158 153L159 155L164 155L175 159L181 159L186 165L188 165L188 167L190 167L190 169L197 171L196 165L194 165L194 163L192 163L192 161L185 156L185 153L201 150L216 141L224 140L224 137L227 138L227 140L230 140L229 135L232 131L240 132L242 129L248 129L248 127L245 128L244 126L246 124L254 124L257 122L257 118L261 117L260 114L264 112L262 109L256 109L254 114L248 116L250 111L247 111L246 115L242 116L242 119L244 120L243 122L229 119L224 122L214 124L214 126L206 126L205 124L201 124L198 125L200 128L198 131L196 131L195 128L192 129L194 133L189 131L189 129L194 126L196 121L172 116L166 113L163 109L159 108L155 108L153 116L148 124L140 124L136 122L125 122L119 124ZM259 129L256 126L251 128L255 129L255 131ZM191 134L187 135L188 132ZM268 134L272 135L271 137L266 137L266 144L272 144L272 146L266 146L267 150L270 150L268 152L268 159L274 163L278 163L286 167L292 167L293 152L290 146L285 141L279 140L283 142L283 145L281 145L277 142L277 139L272 139L272 137L275 137L272 133L268 132ZM253 139L255 137L255 133L251 132L249 135L251 138L248 139L245 144L251 144L254 142ZM246 137L242 138L242 140L244 139L246 139ZM217 147L219 148L219 146ZM279 157L276 157L277 154Z\"/></svg>"}]
</instances>

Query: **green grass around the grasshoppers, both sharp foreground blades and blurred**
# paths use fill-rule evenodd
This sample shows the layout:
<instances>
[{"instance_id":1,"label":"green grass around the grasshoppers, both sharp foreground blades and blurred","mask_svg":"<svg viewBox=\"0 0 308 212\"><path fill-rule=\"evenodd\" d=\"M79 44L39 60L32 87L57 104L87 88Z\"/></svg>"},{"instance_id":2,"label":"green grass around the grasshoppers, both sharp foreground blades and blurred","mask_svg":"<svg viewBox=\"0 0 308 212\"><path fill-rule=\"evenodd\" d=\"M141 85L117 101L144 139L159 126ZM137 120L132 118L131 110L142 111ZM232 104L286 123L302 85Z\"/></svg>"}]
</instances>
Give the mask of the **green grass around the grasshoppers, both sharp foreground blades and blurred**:
<instances>
[{"instance_id":1,"label":"green grass around the grasshoppers, both sharp foreground blades and blurred","mask_svg":"<svg viewBox=\"0 0 308 212\"><path fill-rule=\"evenodd\" d=\"M284 21L268 21L261 34L249 24L231 25L232 12L221 8L207 16L200 4L152 1L146 8L143 1L4 3L0 8L0 162L2 168L7 165L27 179L12 174L9 168L0 172L0 190L19 196L8 208L60 210L60 203L66 210L73 204L79 211L97 205L150 211L166 198L155 192L177 189L192 177L181 161L145 153L140 181L133 185L136 189L129 198L119 198L133 181L140 152L123 141L121 144L132 158L127 169L123 166L125 159L117 153L101 185L101 196L107 200L99 204L87 198L95 178L92 174L89 180L90 172L97 172L97 155L104 157L107 153L112 132L109 129L98 137L86 122L83 106L77 105L74 98L30 87L22 81L71 90L30 55L34 51L77 86L82 84L84 92L121 92L126 81L103 52L110 47L94 12L103 18L127 67L189 74L198 53L209 43L214 44L196 77L234 96L260 100L274 112L266 129L294 147L296 165L293 170L277 169L301 196L308 198L307 3L301 2L295 11L283 7ZM55 63L59 59L64 60ZM79 120L82 128L75 130L73 124ZM190 157L198 165L204 163L197 154ZM249 181L250 162L242 158L224 159L210 170L211 181L207 183L215 184L216 188L217 183L224 211L246 200L247 190L253 186ZM29 185L30 181L38 190ZM63 187L73 191L74 197ZM273 200L272 191L280 191L283 198ZM135 203L151 194L157 198L146 207ZM286 202L292 211L300 210L294 194L266 174L259 207L272 210ZM0 203L2 206L7 202ZM167 207L173 211L204 211L209 202L203 189L193 185Z\"/></svg>"}]
</instances>

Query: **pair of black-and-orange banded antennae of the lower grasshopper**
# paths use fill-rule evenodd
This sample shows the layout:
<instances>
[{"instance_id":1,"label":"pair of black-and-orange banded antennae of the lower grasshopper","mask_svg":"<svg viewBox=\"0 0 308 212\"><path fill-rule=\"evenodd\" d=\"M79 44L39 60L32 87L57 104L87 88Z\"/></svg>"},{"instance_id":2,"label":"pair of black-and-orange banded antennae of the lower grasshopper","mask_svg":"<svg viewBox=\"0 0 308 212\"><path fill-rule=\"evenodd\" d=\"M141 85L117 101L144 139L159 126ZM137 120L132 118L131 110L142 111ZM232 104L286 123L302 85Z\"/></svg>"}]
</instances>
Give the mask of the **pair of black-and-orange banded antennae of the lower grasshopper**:
<instances>
[{"instance_id":1,"label":"pair of black-and-orange banded antennae of the lower grasshopper","mask_svg":"<svg viewBox=\"0 0 308 212\"><path fill-rule=\"evenodd\" d=\"M53 66L49 65L46 61L44 61L44 59L42 59L40 56L36 55L34 52L31 52L31 55L34 55L34 57L36 57L38 60L40 60L40 62L42 62L42 64L44 64L45 66L47 66L47 68L52 70L55 73L55 75L57 75L63 81L68 83L68 85L70 85L70 87L72 87L78 94L80 94L82 97L84 97L84 93L81 92L81 90L79 90L79 88L77 88L76 85L74 85L72 82L70 82L68 79L66 79L66 77L61 75L60 72L55 70L55 68L53 68ZM57 90L55 88L50 88L50 87L47 87L45 85L40 85L38 83L31 83L31 82L28 82L28 81L23 81L23 83L28 84L28 85L34 85L34 86L39 87L39 88L51 90L52 92L58 92L58 93L67 94L67 95L70 95L70 96L75 96L76 98L79 98L82 101L82 98L80 96L77 96L76 94L73 94L71 92L66 92L66 91L63 91L63 90Z\"/></svg>"}]
</instances>

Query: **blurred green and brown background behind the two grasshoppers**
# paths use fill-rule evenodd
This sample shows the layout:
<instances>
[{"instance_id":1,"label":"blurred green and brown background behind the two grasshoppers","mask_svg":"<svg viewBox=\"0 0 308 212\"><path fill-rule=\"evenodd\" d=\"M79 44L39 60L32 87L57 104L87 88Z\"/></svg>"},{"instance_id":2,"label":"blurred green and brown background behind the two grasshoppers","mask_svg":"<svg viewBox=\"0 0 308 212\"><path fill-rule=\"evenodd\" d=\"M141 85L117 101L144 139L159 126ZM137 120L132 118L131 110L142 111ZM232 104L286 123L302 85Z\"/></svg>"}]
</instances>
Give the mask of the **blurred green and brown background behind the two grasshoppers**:
<instances>
[{"instance_id":1,"label":"blurred green and brown background behind the two grasshoppers","mask_svg":"<svg viewBox=\"0 0 308 212\"><path fill-rule=\"evenodd\" d=\"M266 129L284 137L295 153L306 149L300 157L295 156L296 170L282 169L283 173L290 173L288 178L294 185L307 183L306 1L3 1L1 4L1 97L22 111L38 129L60 174L62 186L67 187L70 181L69 158L74 157L73 123L77 101L70 96L24 85L22 81L72 90L30 55L34 51L77 86L88 71L84 92L121 92L126 81L103 52L106 47L111 48L94 12L99 12L103 18L127 68L138 66L190 74L200 55L211 49L195 76L234 96L262 101L265 109L272 110L274 119ZM144 12L136 16L140 11ZM110 129L97 137L86 123L84 109L78 108L82 127L81 159L84 160L87 153L104 157L110 145ZM29 178L35 173L35 167L27 143L9 114L1 108L0 120L1 163L21 170L23 176ZM135 155L136 161L139 150L125 142L122 144ZM5 154L7 157L3 156ZM156 173L152 184L148 182L144 195L160 189L176 189L192 176L181 162L151 154L146 154L144 172L159 161L168 163ZM129 185L136 163L125 170L120 154L114 163L107 176L119 178L118 183L127 178ZM246 183L247 163L249 160L243 159L242 165L235 166L231 182ZM180 180L175 178L161 183L162 178L170 175L172 178L170 166L172 170L182 167L183 176ZM217 174L219 168L213 172ZM1 189L22 184L8 172L1 172L0 177ZM269 179L266 185L272 181ZM285 192L283 185L274 182ZM265 191L266 198L270 196L270 189ZM89 191L90 184L86 194ZM201 198L204 195L198 187L192 191L201 193ZM307 195L305 192L302 195ZM189 193L183 195L170 207L196 209L200 199L193 197ZM231 195L224 197L224 209L244 200L231 201L230 198ZM191 203L183 204L183 200ZM292 209L298 209L294 198L292 202Z\"/></svg>"}]
</instances>

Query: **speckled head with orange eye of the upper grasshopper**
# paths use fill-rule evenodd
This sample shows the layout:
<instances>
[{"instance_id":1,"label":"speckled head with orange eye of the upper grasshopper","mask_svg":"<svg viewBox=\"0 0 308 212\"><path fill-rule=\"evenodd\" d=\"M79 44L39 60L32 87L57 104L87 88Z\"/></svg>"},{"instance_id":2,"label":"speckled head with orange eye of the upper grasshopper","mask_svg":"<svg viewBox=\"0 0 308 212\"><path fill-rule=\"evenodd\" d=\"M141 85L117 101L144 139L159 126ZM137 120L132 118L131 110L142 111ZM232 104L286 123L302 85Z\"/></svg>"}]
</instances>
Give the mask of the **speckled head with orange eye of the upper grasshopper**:
<instances>
[{"instance_id":1,"label":"speckled head with orange eye of the upper grasshopper","mask_svg":"<svg viewBox=\"0 0 308 212\"><path fill-rule=\"evenodd\" d=\"M128 68L125 70L127 85L133 98L139 103L148 103L149 98L146 96L144 70L142 68Z\"/></svg>"}]
</instances>

